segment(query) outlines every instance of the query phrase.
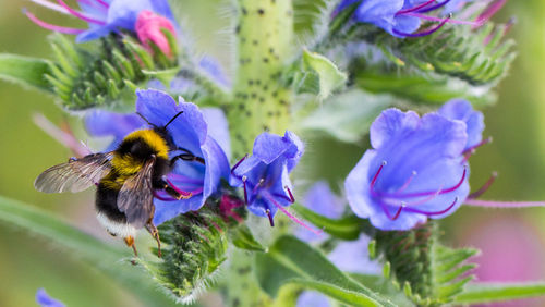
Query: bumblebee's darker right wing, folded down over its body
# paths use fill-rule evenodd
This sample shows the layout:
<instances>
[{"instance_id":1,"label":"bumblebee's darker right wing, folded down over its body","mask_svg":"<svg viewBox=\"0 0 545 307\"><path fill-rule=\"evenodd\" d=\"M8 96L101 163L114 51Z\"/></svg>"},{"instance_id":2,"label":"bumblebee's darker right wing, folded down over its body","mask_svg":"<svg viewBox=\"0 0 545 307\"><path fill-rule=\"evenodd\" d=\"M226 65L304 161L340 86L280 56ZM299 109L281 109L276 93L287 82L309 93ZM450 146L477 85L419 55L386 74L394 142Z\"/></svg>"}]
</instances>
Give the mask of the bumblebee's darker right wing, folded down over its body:
<instances>
[{"instance_id":1,"label":"bumblebee's darker right wing, folded down over its body","mask_svg":"<svg viewBox=\"0 0 545 307\"><path fill-rule=\"evenodd\" d=\"M142 170L128 179L118 195L118 209L126 216L126 222L143 228L154 213L154 189L152 173L155 159L147 161Z\"/></svg>"}]
</instances>

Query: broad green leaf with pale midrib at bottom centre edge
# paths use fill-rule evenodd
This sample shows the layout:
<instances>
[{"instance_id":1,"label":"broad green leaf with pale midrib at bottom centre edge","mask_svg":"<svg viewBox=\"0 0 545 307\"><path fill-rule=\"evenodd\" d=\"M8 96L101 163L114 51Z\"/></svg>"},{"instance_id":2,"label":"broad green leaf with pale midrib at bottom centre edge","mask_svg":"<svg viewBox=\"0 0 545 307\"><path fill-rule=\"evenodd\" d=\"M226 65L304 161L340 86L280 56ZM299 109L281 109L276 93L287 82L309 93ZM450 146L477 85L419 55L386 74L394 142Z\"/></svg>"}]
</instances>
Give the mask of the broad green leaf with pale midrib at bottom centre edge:
<instances>
[{"instance_id":1,"label":"broad green leaf with pale midrib at bottom centre edge","mask_svg":"<svg viewBox=\"0 0 545 307\"><path fill-rule=\"evenodd\" d=\"M337 269L318 250L293 237L281 236L268 253L256 254L259 285L276 297L284 284L319 291L350 306L395 306Z\"/></svg>"}]
</instances>

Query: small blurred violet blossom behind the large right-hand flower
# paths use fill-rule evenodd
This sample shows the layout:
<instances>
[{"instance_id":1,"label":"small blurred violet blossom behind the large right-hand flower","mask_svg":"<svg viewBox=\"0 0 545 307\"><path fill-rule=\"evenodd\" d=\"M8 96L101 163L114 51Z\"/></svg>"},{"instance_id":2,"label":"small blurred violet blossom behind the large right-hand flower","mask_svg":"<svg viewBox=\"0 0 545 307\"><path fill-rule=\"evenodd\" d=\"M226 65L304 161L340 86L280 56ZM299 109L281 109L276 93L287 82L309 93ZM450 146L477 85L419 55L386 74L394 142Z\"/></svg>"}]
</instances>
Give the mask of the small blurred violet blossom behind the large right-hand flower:
<instances>
[{"instance_id":1,"label":"small blurred violet blossom behind the large right-hand flower","mask_svg":"<svg viewBox=\"0 0 545 307\"><path fill-rule=\"evenodd\" d=\"M447 101L438 111L440 115L449 120L458 120L465 123L468 132L468 143L464 151L471 150L482 145L484 131L483 113L474 111L468 100L451 99Z\"/></svg>"}]
</instances>

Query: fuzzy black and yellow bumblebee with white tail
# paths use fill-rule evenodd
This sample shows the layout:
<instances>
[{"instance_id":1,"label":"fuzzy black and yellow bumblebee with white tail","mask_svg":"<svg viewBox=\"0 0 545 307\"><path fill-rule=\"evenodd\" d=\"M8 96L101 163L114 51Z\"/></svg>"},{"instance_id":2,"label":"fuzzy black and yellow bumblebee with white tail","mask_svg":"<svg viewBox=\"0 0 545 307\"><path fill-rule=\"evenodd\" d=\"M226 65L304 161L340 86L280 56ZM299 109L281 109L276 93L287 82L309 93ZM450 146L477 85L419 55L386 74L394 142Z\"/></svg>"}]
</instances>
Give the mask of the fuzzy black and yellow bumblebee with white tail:
<instances>
[{"instance_id":1,"label":"fuzzy black and yellow bumblebee with white tail","mask_svg":"<svg viewBox=\"0 0 545 307\"><path fill-rule=\"evenodd\" d=\"M179 160L205 163L203 158L177 147L167 131L182 113L165 126L156 126L136 113L153 128L134 131L113 151L70 158L66 163L47 169L36 179L35 188L45 193L76 193L96 185L97 219L106 230L123 237L137 257L134 237L136 230L145 226L157 241L161 257L159 232L153 223L154 195L162 189L175 199L191 197L191 193L173 186L166 175ZM175 151L182 154L169 159L169 154Z\"/></svg>"}]
</instances>

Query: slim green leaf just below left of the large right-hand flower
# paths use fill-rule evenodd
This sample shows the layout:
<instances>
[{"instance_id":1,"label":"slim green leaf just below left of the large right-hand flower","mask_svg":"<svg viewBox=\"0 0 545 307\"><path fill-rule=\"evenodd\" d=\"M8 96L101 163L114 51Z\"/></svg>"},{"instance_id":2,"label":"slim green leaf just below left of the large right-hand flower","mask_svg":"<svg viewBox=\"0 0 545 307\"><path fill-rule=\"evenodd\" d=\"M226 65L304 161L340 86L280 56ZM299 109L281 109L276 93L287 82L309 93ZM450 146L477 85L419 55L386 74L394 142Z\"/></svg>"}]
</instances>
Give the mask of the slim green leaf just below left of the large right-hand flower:
<instances>
[{"instance_id":1,"label":"slim green leaf just below left of the large right-hand flower","mask_svg":"<svg viewBox=\"0 0 545 307\"><path fill-rule=\"evenodd\" d=\"M356 217L348 217L339 220L323 217L299 204L291 206L303 219L324 230L326 233L342 240L356 240L360 236L363 224L366 221Z\"/></svg>"}]
</instances>

